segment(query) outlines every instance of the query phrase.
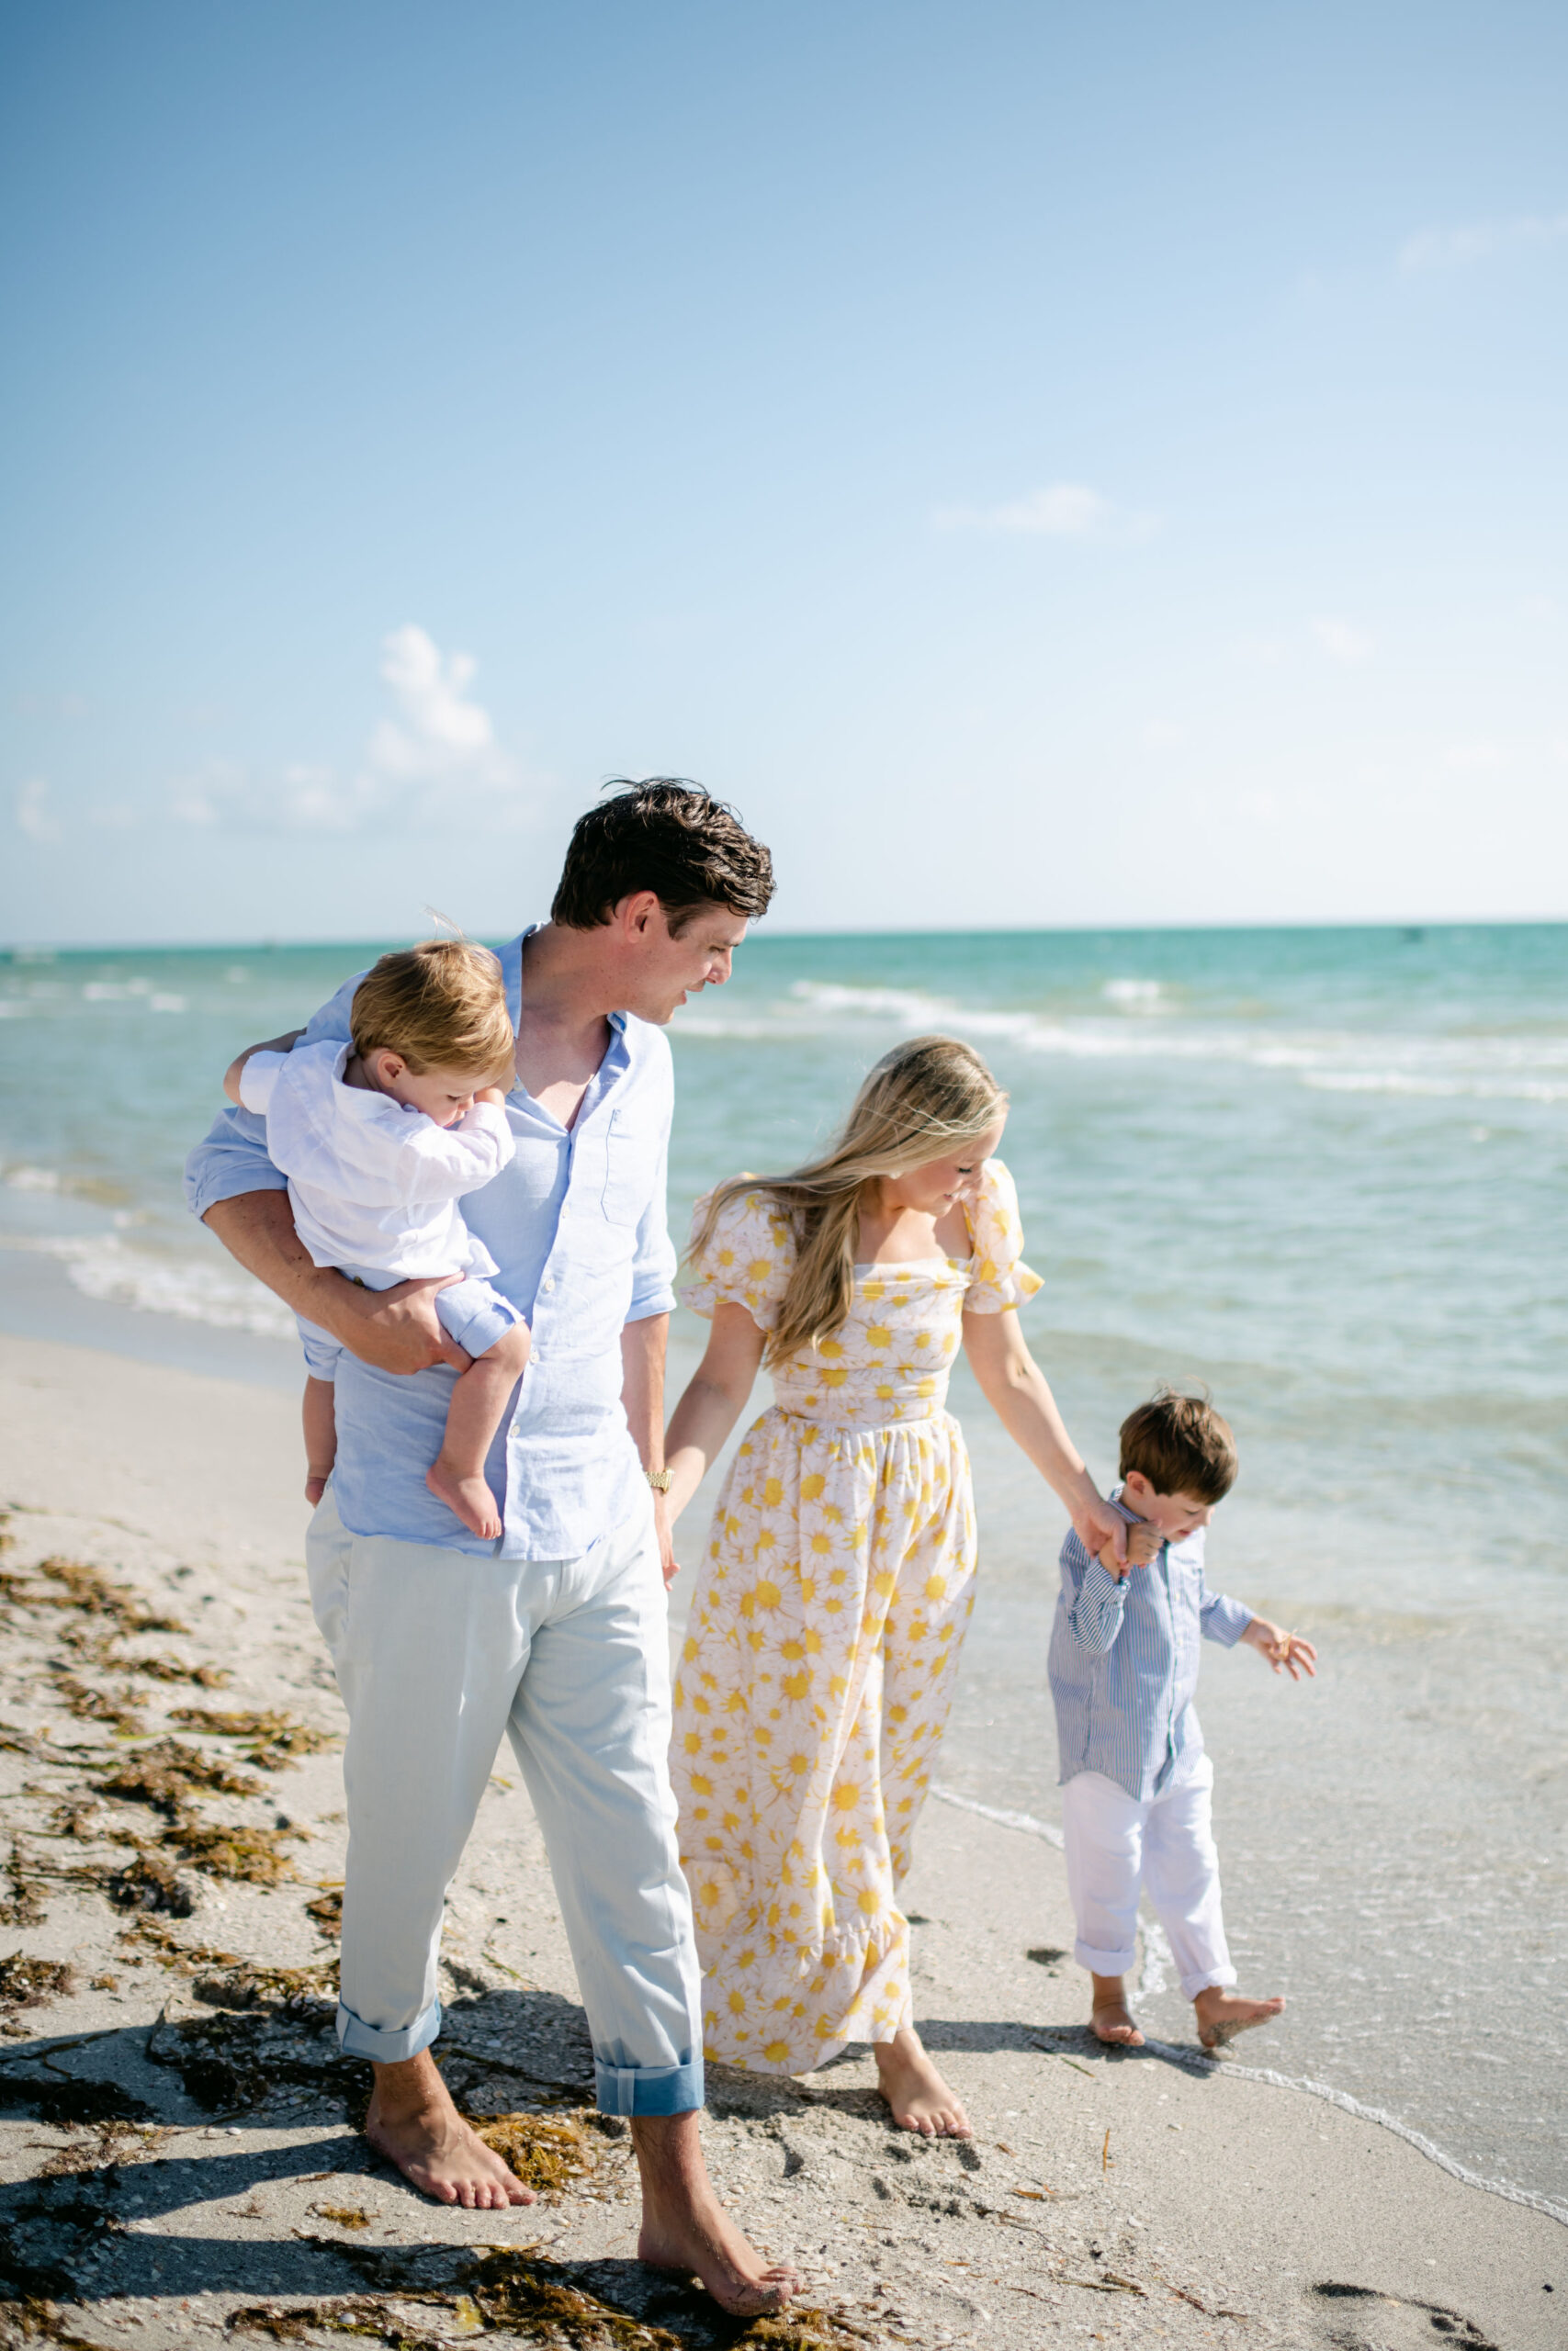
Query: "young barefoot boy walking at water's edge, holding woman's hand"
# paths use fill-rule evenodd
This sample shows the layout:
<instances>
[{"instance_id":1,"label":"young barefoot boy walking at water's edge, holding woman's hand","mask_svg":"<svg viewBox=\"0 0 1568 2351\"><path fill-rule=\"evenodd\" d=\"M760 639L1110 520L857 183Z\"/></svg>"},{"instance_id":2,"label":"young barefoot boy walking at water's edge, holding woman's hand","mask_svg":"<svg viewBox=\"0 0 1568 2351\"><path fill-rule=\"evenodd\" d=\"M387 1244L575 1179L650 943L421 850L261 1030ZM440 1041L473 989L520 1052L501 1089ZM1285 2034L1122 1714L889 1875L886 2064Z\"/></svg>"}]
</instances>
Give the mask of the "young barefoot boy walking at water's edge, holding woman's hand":
<instances>
[{"instance_id":1,"label":"young barefoot boy walking at water's edge, holding woman's hand","mask_svg":"<svg viewBox=\"0 0 1568 2351\"><path fill-rule=\"evenodd\" d=\"M1192 1709L1199 1639L1246 1641L1291 1681L1316 1650L1204 1582L1204 1528L1237 1481L1237 1446L1199 1396L1159 1389L1121 1422L1126 1561L1063 1545L1051 1632L1051 1697L1063 1780L1074 1958L1093 1977L1098 2041L1140 2048L1121 1977L1133 1965L1138 1893L1154 1911L1197 2008L1199 2041L1222 2048L1284 2001L1241 2001L1220 1921L1220 1867L1208 1822L1213 1763Z\"/></svg>"}]
</instances>

